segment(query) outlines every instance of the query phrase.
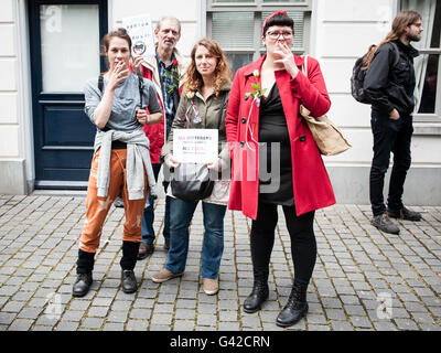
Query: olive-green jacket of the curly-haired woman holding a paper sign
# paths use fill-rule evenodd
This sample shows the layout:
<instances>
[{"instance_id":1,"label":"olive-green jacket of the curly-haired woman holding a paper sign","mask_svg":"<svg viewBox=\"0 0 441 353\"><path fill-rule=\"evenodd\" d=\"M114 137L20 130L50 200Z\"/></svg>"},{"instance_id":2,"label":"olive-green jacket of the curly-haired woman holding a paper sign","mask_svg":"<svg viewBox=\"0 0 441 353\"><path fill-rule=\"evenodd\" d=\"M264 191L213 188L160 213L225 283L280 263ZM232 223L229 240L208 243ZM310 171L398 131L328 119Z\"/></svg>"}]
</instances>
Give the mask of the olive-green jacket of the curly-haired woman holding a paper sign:
<instances>
[{"instance_id":1,"label":"olive-green jacket of the curly-haired woman holding a paper sign","mask_svg":"<svg viewBox=\"0 0 441 353\"><path fill-rule=\"evenodd\" d=\"M206 100L204 100L202 94L197 90L193 98L189 98L186 94L181 96L180 105L176 110L176 115L173 120L172 129L170 131L169 138L165 145L162 147L161 162L164 162L164 158L166 154L173 154L173 130L174 129L217 129L218 118L219 118L219 109L223 109L222 113L222 121L218 135L218 150L219 158L224 161L229 160L229 152L227 146L227 136L225 129L225 117L227 115L227 106L229 98L229 89L232 88L232 84L226 84L220 92L219 97L216 97L213 93ZM220 107L223 96L225 96L224 106ZM201 116L201 122L194 122L195 113L191 106L191 100L195 105L197 111ZM185 111L189 110L187 118L191 121L191 127L187 124L187 120L184 118Z\"/></svg>"}]
</instances>

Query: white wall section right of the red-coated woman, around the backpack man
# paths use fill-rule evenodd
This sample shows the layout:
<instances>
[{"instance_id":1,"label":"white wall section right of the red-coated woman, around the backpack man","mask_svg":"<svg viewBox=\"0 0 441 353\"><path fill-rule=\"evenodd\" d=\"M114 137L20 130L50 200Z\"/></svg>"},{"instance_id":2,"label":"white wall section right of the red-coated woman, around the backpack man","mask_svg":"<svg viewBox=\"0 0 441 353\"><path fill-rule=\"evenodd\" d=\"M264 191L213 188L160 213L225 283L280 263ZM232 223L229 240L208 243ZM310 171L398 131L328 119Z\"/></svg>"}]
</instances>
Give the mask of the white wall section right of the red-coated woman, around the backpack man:
<instances>
[{"instance_id":1,"label":"white wall section right of the red-coated woman, around the backpack man","mask_svg":"<svg viewBox=\"0 0 441 353\"><path fill-rule=\"evenodd\" d=\"M378 44L389 32L397 13L396 0L315 0L311 47L319 58L332 107L330 118L342 128L353 148L325 163L340 203L369 204L368 184L373 157L370 106L351 95L354 62L370 44ZM440 137L421 135L416 126L412 139L412 165L405 184L407 204L441 204ZM392 158L391 158L392 159ZM390 171L389 171L390 173ZM388 178L385 180L387 197Z\"/></svg>"}]
</instances>

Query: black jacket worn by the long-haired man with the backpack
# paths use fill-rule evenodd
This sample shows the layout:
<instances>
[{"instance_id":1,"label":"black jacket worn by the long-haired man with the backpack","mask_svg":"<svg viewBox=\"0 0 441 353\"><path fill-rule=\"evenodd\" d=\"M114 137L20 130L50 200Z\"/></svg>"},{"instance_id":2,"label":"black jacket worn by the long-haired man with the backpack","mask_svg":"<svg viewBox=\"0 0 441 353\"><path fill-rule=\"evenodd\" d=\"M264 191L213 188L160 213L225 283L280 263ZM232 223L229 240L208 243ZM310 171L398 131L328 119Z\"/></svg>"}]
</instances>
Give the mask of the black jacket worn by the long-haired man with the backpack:
<instances>
[{"instance_id":1,"label":"black jacket worn by the long-haired man with the backpack","mask_svg":"<svg viewBox=\"0 0 441 353\"><path fill-rule=\"evenodd\" d=\"M406 45L400 40L395 43L400 53L398 63L394 65L396 61L394 45L390 43L381 45L367 69L363 87L368 99L373 101L373 108L387 114L396 108L400 115L409 115L415 108L413 57L419 53L413 46Z\"/></svg>"}]
</instances>

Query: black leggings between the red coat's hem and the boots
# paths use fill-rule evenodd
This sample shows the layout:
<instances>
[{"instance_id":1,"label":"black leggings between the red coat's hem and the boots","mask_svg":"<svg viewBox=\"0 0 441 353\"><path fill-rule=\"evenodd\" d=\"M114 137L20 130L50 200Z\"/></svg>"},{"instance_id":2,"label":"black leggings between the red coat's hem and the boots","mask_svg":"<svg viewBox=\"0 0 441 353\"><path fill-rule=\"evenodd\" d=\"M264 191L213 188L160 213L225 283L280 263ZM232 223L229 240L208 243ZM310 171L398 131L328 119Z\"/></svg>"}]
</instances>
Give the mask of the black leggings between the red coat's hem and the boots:
<instances>
[{"instance_id":1,"label":"black leggings between the red coat's hem and the boots","mask_svg":"<svg viewBox=\"0 0 441 353\"><path fill-rule=\"evenodd\" d=\"M291 256L294 264L294 281L308 285L316 259L313 229L315 212L295 215L294 206L282 206L291 238ZM278 222L277 205L259 202L257 218L251 224L251 259L255 278L268 279L269 260L275 244Z\"/></svg>"}]
</instances>

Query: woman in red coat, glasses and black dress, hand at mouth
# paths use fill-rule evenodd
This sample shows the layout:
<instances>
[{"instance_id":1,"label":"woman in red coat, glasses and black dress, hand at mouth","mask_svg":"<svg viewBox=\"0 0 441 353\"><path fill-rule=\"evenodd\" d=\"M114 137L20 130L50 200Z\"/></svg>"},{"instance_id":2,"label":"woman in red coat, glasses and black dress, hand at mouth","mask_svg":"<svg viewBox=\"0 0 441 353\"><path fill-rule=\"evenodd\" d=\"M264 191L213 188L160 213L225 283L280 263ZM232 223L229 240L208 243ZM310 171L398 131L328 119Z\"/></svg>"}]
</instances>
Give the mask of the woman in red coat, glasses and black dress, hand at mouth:
<instances>
[{"instance_id":1,"label":"woman in red coat, glasses and black dress, hand at mouth","mask_svg":"<svg viewBox=\"0 0 441 353\"><path fill-rule=\"evenodd\" d=\"M263 22L267 53L237 71L230 92L226 130L233 159L228 207L252 218L250 246L254 288L246 312L260 310L268 298L269 260L282 205L294 265L294 284L276 323L289 327L308 312L306 288L316 258L314 211L335 203L319 149L304 119L303 104L320 117L331 106L316 60L291 53L294 23L284 11ZM269 143L271 142L271 143Z\"/></svg>"}]
</instances>

